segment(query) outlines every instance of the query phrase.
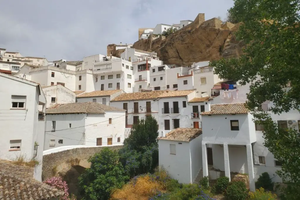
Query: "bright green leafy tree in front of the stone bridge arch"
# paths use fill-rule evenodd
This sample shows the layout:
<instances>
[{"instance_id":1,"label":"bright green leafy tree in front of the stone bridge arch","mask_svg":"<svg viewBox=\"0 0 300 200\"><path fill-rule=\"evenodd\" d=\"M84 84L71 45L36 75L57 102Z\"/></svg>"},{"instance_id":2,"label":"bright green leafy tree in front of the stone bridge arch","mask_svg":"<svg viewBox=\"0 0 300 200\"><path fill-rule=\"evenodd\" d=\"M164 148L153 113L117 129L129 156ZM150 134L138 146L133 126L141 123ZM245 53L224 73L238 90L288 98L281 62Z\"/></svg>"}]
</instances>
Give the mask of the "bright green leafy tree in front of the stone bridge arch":
<instances>
[{"instance_id":1,"label":"bright green leafy tree in front of the stone bridge arch","mask_svg":"<svg viewBox=\"0 0 300 200\"><path fill-rule=\"evenodd\" d=\"M88 161L91 167L78 178L83 199L109 199L113 189L121 188L129 180L117 151L104 147Z\"/></svg>"}]
</instances>

